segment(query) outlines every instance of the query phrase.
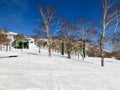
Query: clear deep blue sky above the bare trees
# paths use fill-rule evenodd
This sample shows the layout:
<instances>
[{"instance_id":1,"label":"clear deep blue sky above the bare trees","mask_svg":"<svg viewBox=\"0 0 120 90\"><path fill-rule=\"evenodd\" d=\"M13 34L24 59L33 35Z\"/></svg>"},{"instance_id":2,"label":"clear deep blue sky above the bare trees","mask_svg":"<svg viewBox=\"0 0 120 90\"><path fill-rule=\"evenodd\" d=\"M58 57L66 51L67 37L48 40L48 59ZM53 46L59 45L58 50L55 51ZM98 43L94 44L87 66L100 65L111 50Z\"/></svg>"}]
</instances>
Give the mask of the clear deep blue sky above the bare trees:
<instances>
[{"instance_id":1,"label":"clear deep blue sky above the bare trees","mask_svg":"<svg viewBox=\"0 0 120 90\"><path fill-rule=\"evenodd\" d=\"M34 24L40 16L38 2L49 2L57 12L74 19L75 17L95 18L99 14L100 0L0 0L0 28L22 34L33 34Z\"/></svg>"}]
</instances>

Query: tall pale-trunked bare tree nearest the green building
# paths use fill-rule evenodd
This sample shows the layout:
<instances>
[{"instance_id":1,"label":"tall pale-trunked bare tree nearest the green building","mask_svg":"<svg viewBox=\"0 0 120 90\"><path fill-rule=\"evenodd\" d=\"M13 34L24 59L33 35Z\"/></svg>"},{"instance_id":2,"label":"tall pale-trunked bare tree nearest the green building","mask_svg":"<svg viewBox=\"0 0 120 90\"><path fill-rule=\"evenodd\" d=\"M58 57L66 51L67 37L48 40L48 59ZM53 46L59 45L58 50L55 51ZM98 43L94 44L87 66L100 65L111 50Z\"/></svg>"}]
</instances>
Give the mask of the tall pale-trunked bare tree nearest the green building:
<instances>
[{"instance_id":1,"label":"tall pale-trunked bare tree nearest the green building","mask_svg":"<svg viewBox=\"0 0 120 90\"><path fill-rule=\"evenodd\" d=\"M50 4L47 4L46 7L44 7L42 4L39 4L39 10L42 16L42 20L43 20L45 31L48 38L48 52L50 57L51 56L50 25L52 23L53 18L55 17L56 8L51 6Z\"/></svg>"}]
</instances>

